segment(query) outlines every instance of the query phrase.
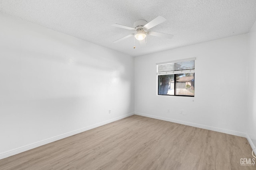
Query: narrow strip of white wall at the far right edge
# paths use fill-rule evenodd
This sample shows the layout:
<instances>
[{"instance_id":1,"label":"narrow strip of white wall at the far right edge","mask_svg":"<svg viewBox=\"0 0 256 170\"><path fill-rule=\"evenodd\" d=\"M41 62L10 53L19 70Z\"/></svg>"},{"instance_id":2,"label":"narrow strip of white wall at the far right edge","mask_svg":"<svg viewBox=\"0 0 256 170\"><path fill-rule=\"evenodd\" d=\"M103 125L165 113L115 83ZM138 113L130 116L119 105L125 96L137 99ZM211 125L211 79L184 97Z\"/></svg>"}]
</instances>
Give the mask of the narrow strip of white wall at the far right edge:
<instances>
[{"instance_id":1,"label":"narrow strip of white wall at the far right edge","mask_svg":"<svg viewBox=\"0 0 256 170\"><path fill-rule=\"evenodd\" d=\"M256 147L256 22L249 33L248 65L248 127L247 133ZM256 152L256 150L254 150Z\"/></svg>"}]
</instances>

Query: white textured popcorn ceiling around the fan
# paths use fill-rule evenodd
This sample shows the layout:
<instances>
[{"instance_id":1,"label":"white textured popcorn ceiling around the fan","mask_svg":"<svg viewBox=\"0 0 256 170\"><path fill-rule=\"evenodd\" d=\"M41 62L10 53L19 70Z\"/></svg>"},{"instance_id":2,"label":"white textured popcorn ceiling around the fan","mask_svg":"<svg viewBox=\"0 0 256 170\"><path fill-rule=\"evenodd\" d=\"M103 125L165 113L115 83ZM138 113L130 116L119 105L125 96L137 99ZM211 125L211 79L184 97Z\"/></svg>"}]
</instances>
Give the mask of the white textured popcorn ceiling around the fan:
<instances>
[{"instance_id":1,"label":"white textured popcorn ceiling around the fan","mask_svg":"<svg viewBox=\"0 0 256 170\"><path fill-rule=\"evenodd\" d=\"M131 56L140 56L213 39L248 33L256 21L256 0L0 0L0 12L98 44ZM111 26L133 27L136 20L167 21L151 31L172 39L148 36L146 47L134 33Z\"/></svg>"}]
</instances>

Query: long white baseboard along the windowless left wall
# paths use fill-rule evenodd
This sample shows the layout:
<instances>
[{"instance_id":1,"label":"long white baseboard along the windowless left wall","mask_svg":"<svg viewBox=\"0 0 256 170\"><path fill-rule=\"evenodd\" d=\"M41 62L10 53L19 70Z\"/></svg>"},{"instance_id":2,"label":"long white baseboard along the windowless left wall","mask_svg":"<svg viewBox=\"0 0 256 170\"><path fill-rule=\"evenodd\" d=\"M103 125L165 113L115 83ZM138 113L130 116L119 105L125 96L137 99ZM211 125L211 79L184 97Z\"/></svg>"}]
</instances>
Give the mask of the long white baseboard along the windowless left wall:
<instances>
[{"instance_id":1,"label":"long white baseboard along the windowless left wall","mask_svg":"<svg viewBox=\"0 0 256 170\"><path fill-rule=\"evenodd\" d=\"M34 149L36 147L40 147L42 145L46 145L48 143L58 141L60 139L66 138L66 137L70 137L72 135L76 135L76 134L84 132L84 131L88 131L90 129L93 129L93 128L96 128L96 127L99 127L99 126L102 126L102 125L106 125L106 124L111 123L113 121L117 121L117 120L123 119L125 117L129 117L131 115L134 115L134 112L133 113L128 113L126 115L116 117L114 119L110 119L110 120L107 120L107 121L104 121L104 122L101 122L101 123L97 123L95 125L84 127L82 129L78 129L78 130L71 131L71 132L68 132L68 133L65 133L65 134L62 134L62 135L58 135L56 137L52 137L52 138L49 138L49 139L46 139L46 140L43 140L43 141L32 143L30 145L26 145L26 146L23 146L23 147L19 147L19 148L16 148L16 149L9 150L7 152L0 153L0 159L7 158L9 156L12 156L12 155L15 155L15 154L18 154L18 153L21 153L21 152L25 152L25 151L30 150L30 149Z\"/></svg>"}]
</instances>

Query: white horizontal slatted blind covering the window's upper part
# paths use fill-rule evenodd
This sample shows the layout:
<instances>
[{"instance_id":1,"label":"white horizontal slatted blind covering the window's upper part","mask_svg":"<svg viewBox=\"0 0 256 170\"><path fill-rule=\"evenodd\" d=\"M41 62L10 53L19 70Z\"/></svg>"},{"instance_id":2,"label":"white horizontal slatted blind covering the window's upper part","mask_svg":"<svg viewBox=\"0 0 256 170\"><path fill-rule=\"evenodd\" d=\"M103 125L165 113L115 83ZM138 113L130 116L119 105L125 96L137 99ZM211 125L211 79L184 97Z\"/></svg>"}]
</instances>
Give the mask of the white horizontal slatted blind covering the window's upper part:
<instances>
[{"instance_id":1,"label":"white horizontal slatted blind covering the window's upper part","mask_svg":"<svg viewBox=\"0 0 256 170\"><path fill-rule=\"evenodd\" d=\"M157 74L178 74L182 72L194 72L195 71L195 59L184 59L177 61L169 61L164 63L156 63Z\"/></svg>"}]
</instances>

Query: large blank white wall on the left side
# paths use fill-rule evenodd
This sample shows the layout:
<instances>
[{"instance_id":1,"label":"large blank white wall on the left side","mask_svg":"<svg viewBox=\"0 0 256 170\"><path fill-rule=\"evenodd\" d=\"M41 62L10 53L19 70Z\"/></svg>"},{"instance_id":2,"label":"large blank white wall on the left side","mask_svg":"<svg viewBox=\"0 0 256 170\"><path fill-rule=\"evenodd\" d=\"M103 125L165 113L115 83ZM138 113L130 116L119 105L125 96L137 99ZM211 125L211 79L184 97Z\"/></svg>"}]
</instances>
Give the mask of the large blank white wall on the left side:
<instances>
[{"instance_id":1,"label":"large blank white wall on the left side","mask_svg":"<svg viewBox=\"0 0 256 170\"><path fill-rule=\"evenodd\" d=\"M134 113L134 57L3 14L0 25L0 155Z\"/></svg>"}]
</instances>

